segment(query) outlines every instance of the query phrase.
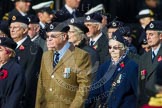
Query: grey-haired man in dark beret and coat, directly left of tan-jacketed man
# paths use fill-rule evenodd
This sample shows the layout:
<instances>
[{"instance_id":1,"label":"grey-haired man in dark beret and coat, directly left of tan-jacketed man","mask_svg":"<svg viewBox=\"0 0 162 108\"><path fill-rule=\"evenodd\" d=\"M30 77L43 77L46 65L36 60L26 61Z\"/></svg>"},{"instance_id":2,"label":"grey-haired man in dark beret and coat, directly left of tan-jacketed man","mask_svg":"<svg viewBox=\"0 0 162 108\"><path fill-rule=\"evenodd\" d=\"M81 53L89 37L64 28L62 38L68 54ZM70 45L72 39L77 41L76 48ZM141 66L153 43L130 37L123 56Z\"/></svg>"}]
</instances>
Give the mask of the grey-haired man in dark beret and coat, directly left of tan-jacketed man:
<instances>
[{"instance_id":1,"label":"grey-haired man in dark beret and coat, directly left of tan-jacketed man","mask_svg":"<svg viewBox=\"0 0 162 108\"><path fill-rule=\"evenodd\" d=\"M15 50L17 59L25 69L26 88L22 104L24 108L34 108L37 78L43 51L38 45L31 42L27 35L29 21L26 17L13 16L10 22L11 38L18 44Z\"/></svg>"}]
</instances>

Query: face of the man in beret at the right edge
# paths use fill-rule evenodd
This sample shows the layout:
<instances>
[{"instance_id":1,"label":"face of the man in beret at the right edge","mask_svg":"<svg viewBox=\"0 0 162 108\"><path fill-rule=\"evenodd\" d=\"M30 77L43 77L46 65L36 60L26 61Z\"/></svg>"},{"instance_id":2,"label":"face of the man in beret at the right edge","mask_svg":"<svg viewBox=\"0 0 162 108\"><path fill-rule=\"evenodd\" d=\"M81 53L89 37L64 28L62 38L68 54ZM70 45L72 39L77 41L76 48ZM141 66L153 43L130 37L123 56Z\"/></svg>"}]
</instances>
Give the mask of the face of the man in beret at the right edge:
<instances>
[{"instance_id":1,"label":"face of the man in beret at the right edge","mask_svg":"<svg viewBox=\"0 0 162 108\"><path fill-rule=\"evenodd\" d=\"M157 31L147 30L146 31L147 43L151 47L157 47L160 44L162 39L162 34L159 34Z\"/></svg>"}]
</instances>

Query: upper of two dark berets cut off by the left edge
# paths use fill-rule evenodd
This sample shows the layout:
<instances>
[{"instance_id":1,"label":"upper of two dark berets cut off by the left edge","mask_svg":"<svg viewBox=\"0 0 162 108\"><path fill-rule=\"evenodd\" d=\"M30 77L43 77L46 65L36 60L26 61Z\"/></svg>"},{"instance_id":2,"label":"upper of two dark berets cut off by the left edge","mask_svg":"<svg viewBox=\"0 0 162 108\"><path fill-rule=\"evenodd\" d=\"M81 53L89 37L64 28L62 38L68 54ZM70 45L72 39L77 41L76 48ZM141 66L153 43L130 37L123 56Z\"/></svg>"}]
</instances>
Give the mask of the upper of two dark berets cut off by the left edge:
<instances>
[{"instance_id":1,"label":"upper of two dark berets cut off by the left edge","mask_svg":"<svg viewBox=\"0 0 162 108\"><path fill-rule=\"evenodd\" d=\"M8 21L1 21L1 22L0 22L0 30L1 30L4 34L6 34L7 36L10 36L10 32L9 32L8 27L9 27Z\"/></svg>"}]
</instances>

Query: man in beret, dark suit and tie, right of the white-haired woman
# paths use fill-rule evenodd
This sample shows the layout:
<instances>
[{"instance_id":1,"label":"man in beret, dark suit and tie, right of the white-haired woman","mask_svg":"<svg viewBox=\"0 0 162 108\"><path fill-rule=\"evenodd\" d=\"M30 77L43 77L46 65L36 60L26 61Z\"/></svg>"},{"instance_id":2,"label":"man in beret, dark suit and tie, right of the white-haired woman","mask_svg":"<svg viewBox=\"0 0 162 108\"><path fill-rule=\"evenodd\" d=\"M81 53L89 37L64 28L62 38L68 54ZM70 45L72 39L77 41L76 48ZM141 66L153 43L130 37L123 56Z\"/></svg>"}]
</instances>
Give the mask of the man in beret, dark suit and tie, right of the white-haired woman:
<instances>
[{"instance_id":1,"label":"man in beret, dark suit and tie, right of the white-haired woman","mask_svg":"<svg viewBox=\"0 0 162 108\"><path fill-rule=\"evenodd\" d=\"M87 26L89 31L86 33L89 38L89 45L96 50L99 55L100 64L104 63L107 59L109 53L108 49L108 39L101 32L102 29L102 16L98 13L93 13L87 15L84 24Z\"/></svg>"}]
</instances>

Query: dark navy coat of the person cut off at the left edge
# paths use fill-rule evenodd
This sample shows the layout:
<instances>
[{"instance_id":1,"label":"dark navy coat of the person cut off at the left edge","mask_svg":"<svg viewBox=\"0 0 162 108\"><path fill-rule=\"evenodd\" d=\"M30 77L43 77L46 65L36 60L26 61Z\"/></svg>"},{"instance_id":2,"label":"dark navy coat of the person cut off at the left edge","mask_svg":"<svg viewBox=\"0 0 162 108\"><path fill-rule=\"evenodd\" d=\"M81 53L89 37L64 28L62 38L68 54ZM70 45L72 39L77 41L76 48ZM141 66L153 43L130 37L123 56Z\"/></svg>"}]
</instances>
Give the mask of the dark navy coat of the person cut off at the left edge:
<instances>
[{"instance_id":1,"label":"dark navy coat of the person cut off at the left edge","mask_svg":"<svg viewBox=\"0 0 162 108\"><path fill-rule=\"evenodd\" d=\"M25 91L25 72L15 59L10 59L0 69L7 70L8 76L0 79L0 108L20 108L20 100Z\"/></svg>"}]
</instances>

